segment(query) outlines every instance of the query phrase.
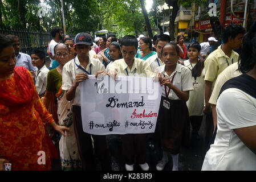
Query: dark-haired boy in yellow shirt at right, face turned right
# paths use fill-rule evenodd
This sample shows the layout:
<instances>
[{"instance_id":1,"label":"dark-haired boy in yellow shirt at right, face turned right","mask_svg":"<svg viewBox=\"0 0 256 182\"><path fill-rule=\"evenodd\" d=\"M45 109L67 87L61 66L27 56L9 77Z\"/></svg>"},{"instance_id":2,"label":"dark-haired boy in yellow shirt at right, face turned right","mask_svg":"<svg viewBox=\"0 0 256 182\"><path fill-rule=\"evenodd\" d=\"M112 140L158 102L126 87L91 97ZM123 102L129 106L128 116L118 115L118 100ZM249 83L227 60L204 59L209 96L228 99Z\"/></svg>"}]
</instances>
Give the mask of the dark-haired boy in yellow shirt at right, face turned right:
<instances>
[{"instance_id":1,"label":"dark-haired boy in yellow shirt at right, face turned right","mask_svg":"<svg viewBox=\"0 0 256 182\"><path fill-rule=\"evenodd\" d=\"M239 49L242 45L245 28L238 24L231 23L223 32L223 44L205 60L205 108L206 114L206 139L208 144L213 135L217 123L213 123L212 106L209 103L212 90L218 75L229 65L238 61L239 55L233 50Z\"/></svg>"}]
</instances>

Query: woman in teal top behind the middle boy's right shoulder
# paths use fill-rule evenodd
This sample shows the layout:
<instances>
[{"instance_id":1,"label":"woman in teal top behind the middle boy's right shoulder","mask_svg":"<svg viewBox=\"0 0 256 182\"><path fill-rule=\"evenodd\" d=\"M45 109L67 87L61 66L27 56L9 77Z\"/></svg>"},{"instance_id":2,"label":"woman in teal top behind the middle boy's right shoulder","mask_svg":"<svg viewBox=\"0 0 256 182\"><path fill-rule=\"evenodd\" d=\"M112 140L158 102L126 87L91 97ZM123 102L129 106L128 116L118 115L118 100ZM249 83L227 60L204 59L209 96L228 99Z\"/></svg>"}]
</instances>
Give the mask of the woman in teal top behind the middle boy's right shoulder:
<instances>
[{"instance_id":1,"label":"woman in teal top behind the middle boy's right shoulder","mask_svg":"<svg viewBox=\"0 0 256 182\"><path fill-rule=\"evenodd\" d=\"M140 38L139 41L139 50L135 57L147 60L148 57L151 57L156 54L155 51L152 51L152 40L148 36Z\"/></svg>"}]
</instances>

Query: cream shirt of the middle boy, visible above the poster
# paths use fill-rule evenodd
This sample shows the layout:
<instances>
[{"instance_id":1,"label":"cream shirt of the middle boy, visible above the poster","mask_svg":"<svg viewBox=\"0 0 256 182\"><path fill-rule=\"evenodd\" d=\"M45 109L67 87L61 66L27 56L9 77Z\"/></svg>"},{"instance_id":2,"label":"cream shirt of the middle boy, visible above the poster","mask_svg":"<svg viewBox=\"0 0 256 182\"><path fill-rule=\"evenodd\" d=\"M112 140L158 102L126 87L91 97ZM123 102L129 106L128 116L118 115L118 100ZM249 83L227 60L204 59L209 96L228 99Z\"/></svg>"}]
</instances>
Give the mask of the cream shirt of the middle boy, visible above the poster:
<instances>
[{"instance_id":1,"label":"cream shirt of the middle boy, visible above the poster","mask_svg":"<svg viewBox=\"0 0 256 182\"><path fill-rule=\"evenodd\" d=\"M110 73L111 71L116 71L117 75L123 76L154 77L154 73L151 71L151 67L148 62L136 57L132 65L132 69L128 67L124 59L119 59L115 60L108 67L108 72Z\"/></svg>"}]
</instances>

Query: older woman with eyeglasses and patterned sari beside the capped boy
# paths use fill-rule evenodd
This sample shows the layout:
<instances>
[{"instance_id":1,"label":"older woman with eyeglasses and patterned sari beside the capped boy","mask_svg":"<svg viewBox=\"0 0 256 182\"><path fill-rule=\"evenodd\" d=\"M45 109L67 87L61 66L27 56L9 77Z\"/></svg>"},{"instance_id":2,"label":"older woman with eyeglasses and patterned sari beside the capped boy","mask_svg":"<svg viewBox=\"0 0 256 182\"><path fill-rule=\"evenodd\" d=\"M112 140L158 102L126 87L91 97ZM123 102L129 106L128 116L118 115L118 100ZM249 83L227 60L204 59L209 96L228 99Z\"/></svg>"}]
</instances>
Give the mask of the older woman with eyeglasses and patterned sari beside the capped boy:
<instances>
[{"instance_id":1,"label":"older woman with eyeglasses and patterned sari beside the capped boy","mask_svg":"<svg viewBox=\"0 0 256 182\"><path fill-rule=\"evenodd\" d=\"M54 116L55 122L59 122L61 126L68 127L72 132L72 135L67 137L62 136L59 140L62 169L78 170L82 169L82 162L74 135L71 104L66 99L66 92L62 90L62 71L64 65L70 61L70 49L66 44L57 44L54 47L54 54L59 66L48 72L44 104ZM51 134L50 132L50 136ZM54 135L55 143L58 143L58 139L58 136L55 137Z\"/></svg>"}]
</instances>

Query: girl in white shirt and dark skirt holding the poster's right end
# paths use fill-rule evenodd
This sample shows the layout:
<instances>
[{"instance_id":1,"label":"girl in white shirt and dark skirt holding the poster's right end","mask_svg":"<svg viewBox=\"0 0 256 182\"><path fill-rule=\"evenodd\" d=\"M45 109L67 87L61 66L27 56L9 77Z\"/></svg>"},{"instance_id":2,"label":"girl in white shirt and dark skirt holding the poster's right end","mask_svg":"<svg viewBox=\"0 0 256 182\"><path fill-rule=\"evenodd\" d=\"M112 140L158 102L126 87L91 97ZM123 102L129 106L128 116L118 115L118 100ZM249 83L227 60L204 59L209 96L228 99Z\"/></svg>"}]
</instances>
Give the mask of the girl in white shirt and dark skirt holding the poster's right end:
<instances>
[{"instance_id":1,"label":"girl in white shirt and dark skirt holding the poster's right end","mask_svg":"<svg viewBox=\"0 0 256 182\"><path fill-rule=\"evenodd\" d=\"M157 163L156 169L164 169L170 154L172 170L177 171L181 143L189 139L189 113L186 101L189 99L189 91L193 90L192 75L189 68L177 63L177 43L165 44L161 53L165 64L158 67L155 72L162 74L162 98L156 129L160 138L162 159Z\"/></svg>"}]
</instances>

